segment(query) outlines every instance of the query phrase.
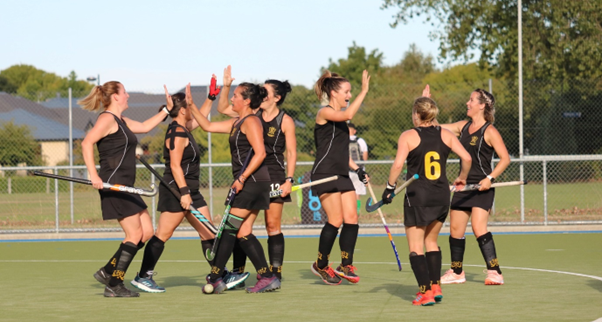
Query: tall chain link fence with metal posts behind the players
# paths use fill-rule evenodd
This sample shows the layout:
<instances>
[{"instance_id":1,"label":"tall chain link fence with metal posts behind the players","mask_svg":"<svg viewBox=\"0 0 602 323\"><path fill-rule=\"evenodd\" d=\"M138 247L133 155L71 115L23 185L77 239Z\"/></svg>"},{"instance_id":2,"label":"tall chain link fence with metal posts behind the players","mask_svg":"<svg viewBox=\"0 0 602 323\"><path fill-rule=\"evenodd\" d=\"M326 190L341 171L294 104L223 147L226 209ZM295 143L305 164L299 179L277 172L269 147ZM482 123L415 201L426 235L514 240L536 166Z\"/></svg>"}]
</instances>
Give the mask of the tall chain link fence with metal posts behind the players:
<instances>
[{"instance_id":1,"label":"tall chain link fence with metal posts behind the players","mask_svg":"<svg viewBox=\"0 0 602 323\"><path fill-rule=\"evenodd\" d=\"M412 127L411 108L421 95L422 84L373 84L354 118L358 136L369 147L367 171L377 195L383 190L399 135ZM354 86L354 94L359 86ZM585 82L525 83L524 158L519 159L518 89L514 83L483 80L464 84L431 84L433 99L440 108L439 122L466 118L466 101L476 88L491 91L496 97L495 126L502 134L513 161L498 181L520 179L524 168L524 187L498 189L493 224L558 224L602 222L602 137L596 135L602 124L602 91ZM146 120L164 104L165 96L130 93L130 108L125 116ZM193 87L197 104L206 97L206 87ZM32 95L32 97L40 97ZM118 230L114 221L104 222L100 199L92 187L71 185L32 176L33 171L86 178L79 142L95 123L97 114L81 110L77 99L64 95L42 102L0 93L0 232L56 232L70 230ZM73 167L70 167L69 105L73 107ZM217 111L213 120L222 120ZM303 181L315 156L313 128L320 107L311 89L295 86L282 108L295 120L298 141L296 178ZM139 136L138 153L162 172L162 145L166 123L149 134ZM215 220L220 219L223 199L232 181L228 138L196 130L194 136L202 151L202 193L210 202ZM453 158L453 157L452 157ZM458 173L451 160L449 177ZM72 172L73 173L72 173ZM211 175L211 176L210 176ZM136 186L149 187L152 175L138 169ZM377 196L379 197L379 196ZM362 197L362 208L368 196ZM156 217L156 199L145 198ZM312 204L313 203L313 204ZM285 207L287 226L311 226L324 217L318 215L316 197L309 192L293 195ZM307 211L309 209L309 211ZM303 216L311 212L311 221ZM403 223L403 205L397 201L383 209L392 225ZM261 217L260 217L261 218ZM378 225L377 214L361 212L363 225ZM258 225L263 220L258 220ZM189 229L185 226L186 229Z\"/></svg>"}]
</instances>

